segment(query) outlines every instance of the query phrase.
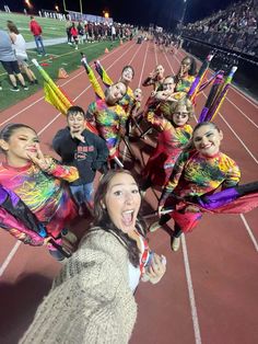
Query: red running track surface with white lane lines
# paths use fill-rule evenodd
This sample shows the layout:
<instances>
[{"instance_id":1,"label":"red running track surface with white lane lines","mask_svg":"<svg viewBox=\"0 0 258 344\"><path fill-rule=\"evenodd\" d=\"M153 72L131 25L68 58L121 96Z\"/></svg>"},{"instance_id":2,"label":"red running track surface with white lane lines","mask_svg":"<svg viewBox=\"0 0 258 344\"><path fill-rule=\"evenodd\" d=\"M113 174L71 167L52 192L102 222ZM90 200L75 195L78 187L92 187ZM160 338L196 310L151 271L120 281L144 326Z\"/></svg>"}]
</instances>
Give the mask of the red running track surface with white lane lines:
<instances>
[{"instance_id":1,"label":"red running track surface with white lane lines","mask_svg":"<svg viewBox=\"0 0 258 344\"><path fill-rule=\"evenodd\" d=\"M184 55L159 51L151 43L127 43L102 61L114 80L125 65L132 65L136 88L157 62L164 65L166 74L175 73ZM62 88L84 108L94 100L82 68L62 82ZM145 89L145 100L149 93ZM206 94L201 94L197 114L204 101ZM52 136L66 124L64 117L45 103L43 92L4 111L0 118L1 127L9 122L33 126L40 135L44 151L49 150ZM222 150L238 162L242 181L257 180L257 103L232 89L216 123L224 133ZM133 150L146 161L150 145L150 140L133 144ZM156 208L153 191L148 191L145 200L149 209ZM159 285L141 284L138 288L139 316L130 343L258 343L257 219L258 209L245 216L204 216L198 228L183 238L177 253L171 251L165 231L150 234L150 245L167 257L167 273ZM59 268L45 248L19 245L8 233L0 232L1 344L17 343Z\"/></svg>"}]
</instances>

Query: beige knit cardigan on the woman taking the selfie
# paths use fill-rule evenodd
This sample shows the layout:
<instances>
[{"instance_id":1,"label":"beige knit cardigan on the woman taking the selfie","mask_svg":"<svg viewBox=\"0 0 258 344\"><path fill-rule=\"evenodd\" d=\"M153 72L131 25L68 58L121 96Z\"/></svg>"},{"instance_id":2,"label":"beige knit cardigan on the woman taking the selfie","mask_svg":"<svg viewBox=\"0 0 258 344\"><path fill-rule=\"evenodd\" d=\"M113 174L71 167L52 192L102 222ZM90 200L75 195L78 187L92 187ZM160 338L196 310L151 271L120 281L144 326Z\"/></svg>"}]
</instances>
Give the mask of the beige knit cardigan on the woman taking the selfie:
<instances>
[{"instance_id":1,"label":"beige knit cardigan on the woman taking the selfie","mask_svg":"<svg viewBox=\"0 0 258 344\"><path fill-rule=\"evenodd\" d=\"M20 344L128 343L137 318L128 278L121 242L101 228L87 233Z\"/></svg>"}]
</instances>

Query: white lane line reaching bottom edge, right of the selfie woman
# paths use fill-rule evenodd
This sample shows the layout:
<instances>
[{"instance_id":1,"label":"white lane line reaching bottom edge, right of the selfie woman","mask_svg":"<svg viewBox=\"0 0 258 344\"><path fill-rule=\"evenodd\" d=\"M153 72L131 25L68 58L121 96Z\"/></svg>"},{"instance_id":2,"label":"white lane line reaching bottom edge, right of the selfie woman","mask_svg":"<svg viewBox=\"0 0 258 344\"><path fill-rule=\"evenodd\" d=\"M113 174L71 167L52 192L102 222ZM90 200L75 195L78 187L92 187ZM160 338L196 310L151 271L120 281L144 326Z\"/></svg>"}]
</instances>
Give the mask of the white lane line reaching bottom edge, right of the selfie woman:
<instances>
[{"instance_id":1,"label":"white lane line reaching bottom edge, right of the selfie woman","mask_svg":"<svg viewBox=\"0 0 258 344\"><path fill-rule=\"evenodd\" d=\"M188 294L189 294L189 300L190 300L195 340L196 340L196 344L201 344L200 326L199 326L199 320L198 320L198 314L197 314L196 298L195 298L195 291L194 291L194 286L191 282L191 272L190 272L190 265L189 265L189 260L188 260L185 234L181 234L181 248L183 248L183 256L184 256L185 271L186 271L187 287L188 287Z\"/></svg>"}]
</instances>

